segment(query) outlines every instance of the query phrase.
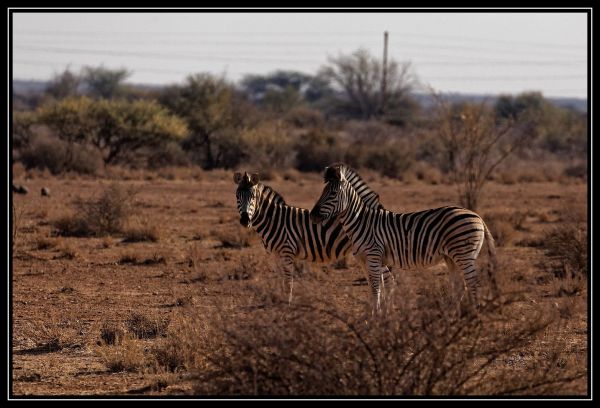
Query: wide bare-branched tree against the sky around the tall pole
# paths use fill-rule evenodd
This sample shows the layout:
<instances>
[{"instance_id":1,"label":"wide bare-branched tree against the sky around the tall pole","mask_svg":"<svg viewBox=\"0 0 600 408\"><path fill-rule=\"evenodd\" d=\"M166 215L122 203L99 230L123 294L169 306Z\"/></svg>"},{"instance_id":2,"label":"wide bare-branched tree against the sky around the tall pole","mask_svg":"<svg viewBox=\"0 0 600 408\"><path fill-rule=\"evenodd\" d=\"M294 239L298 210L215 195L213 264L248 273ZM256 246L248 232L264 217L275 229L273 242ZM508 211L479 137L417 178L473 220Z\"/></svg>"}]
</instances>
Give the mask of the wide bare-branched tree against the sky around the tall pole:
<instances>
[{"instance_id":1,"label":"wide bare-branched tree against the sky around the tall pole","mask_svg":"<svg viewBox=\"0 0 600 408\"><path fill-rule=\"evenodd\" d=\"M338 100L338 105L351 117L401 123L416 106L410 97L415 78L409 63L398 64L394 60L388 63L385 91L383 64L364 49L330 58L329 65L319 75L343 91L345 100Z\"/></svg>"}]
</instances>

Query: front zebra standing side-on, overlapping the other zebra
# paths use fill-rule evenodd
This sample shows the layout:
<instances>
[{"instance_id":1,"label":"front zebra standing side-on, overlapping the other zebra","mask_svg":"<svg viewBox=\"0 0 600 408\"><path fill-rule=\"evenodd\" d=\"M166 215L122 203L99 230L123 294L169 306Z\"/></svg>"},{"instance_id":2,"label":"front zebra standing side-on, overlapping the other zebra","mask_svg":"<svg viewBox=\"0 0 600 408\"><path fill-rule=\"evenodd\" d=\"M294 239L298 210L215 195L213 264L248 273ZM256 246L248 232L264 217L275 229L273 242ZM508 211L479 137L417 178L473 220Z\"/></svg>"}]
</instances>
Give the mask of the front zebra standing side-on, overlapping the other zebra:
<instances>
[{"instance_id":1,"label":"front zebra standing side-on, overlapping the other zebra","mask_svg":"<svg viewBox=\"0 0 600 408\"><path fill-rule=\"evenodd\" d=\"M353 254L365 264L376 309L380 306L381 287L389 276L386 265L400 269L428 267L446 262L455 295L464 294L462 271L472 300L477 300L479 279L475 259L488 240L490 282L496 263L494 239L481 217L459 207L441 207L413 213L394 213L383 208L367 208L349 178L355 172L344 164L325 170L325 187L310 213L315 223L339 220L352 241ZM459 301L460 301L459 299Z\"/></svg>"}]
</instances>

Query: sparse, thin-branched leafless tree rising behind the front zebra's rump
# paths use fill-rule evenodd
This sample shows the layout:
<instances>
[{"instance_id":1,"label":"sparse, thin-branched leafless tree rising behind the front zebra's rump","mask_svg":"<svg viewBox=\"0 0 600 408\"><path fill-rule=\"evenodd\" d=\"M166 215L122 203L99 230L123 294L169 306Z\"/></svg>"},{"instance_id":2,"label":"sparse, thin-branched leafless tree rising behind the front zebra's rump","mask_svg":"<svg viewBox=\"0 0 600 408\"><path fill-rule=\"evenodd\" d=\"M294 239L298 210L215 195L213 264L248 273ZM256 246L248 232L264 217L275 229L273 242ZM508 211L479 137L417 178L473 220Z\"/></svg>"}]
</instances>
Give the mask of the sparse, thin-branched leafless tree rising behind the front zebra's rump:
<instances>
[{"instance_id":1,"label":"sparse, thin-branched leafless tree rising behind the front zebra's rump","mask_svg":"<svg viewBox=\"0 0 600 408\"><path fill-rule=\"evenodd\" d=\"M498 121L485 100L449 104L440 95L434 99L446 170L457 186L461 205L475 211L483 187L498 165L535 139L535 122L512 117Z\"/></svg>"}]
</instances>

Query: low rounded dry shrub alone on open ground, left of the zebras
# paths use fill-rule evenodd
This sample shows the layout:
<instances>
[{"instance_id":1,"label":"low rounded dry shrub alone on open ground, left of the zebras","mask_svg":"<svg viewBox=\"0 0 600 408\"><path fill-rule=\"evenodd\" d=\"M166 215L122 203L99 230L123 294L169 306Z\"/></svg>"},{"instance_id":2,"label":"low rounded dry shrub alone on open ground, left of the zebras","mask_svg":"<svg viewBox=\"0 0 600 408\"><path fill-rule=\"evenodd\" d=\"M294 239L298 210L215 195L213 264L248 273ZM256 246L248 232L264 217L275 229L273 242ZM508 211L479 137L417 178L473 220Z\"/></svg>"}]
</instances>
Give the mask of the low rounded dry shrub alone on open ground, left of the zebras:
<instances>
[{"instance_id":1,"label":"low rounded dry shrub alone on open ground, left of the zebras","mask_svg":"<svg viewBox=\"0 0 600 408\"><path fill-rule=\"evenodd\" d=\"M55 234L104 236L122 231L133 208L135 191L118 184L106 187L98 197L76 201L76 212L54 221Z\"/></svg>"}]
</instances>

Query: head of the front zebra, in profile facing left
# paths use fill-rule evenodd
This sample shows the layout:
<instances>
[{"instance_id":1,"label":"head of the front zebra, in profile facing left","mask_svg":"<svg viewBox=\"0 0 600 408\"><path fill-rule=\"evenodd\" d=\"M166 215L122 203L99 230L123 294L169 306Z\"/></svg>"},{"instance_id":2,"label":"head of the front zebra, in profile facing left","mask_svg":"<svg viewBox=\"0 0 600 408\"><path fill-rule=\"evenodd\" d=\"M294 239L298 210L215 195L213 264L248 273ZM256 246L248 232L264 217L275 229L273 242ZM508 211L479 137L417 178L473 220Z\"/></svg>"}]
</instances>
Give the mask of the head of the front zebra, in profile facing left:
<instances>
[{"instance_id":1,"label":"head of the front zebra, in profile facing left","mask_svg":"<svg viewBox=\"0 0 600 408\"><path fill-rule=\"evenodd\" d=\"M325 187L321 197L310 212L313 223L326 222L348 208L348 180L341 165L325 168Z\"/></svg>"}]
</instances>

